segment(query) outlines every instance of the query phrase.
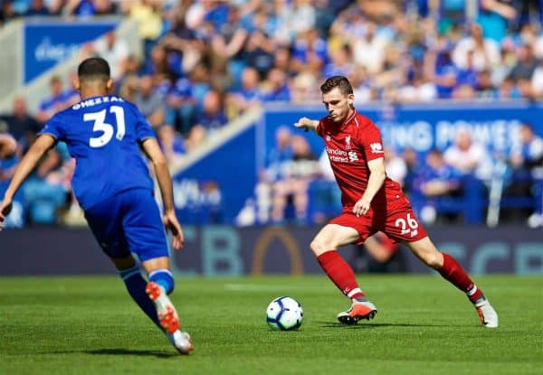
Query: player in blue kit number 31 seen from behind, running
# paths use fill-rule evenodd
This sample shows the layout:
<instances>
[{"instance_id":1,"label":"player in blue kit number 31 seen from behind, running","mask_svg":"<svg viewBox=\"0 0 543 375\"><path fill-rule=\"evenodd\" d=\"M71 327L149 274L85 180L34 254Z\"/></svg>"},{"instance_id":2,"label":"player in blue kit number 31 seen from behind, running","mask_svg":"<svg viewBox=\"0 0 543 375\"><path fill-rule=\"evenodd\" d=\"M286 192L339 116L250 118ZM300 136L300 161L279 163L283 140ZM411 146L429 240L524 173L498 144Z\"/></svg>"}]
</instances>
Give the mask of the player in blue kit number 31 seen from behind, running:
<instances>
[{"instance_id":1,"label":"player in blue kit number 31 seen from behind, running","mask_svg":"<svg viewBox=\"0 0 543 375\"><path fill-rule=\"evenodd\" d=\"M49 119L24 155L0 203L0 230L25 178L52 146L65 142L76 159L72 189L90 230L119 270L129 295L176 350L188 354L191 339L179 330L176 308L167 296L174 289L174 278L164 227L173 234L174 248L182 248L184 241L167 161L138 108L108 95L112 84L107 61L92 57L81 62L77 82L81 101ZM141 151L155 170L164 204L162 218Z\"/></svg>"}]
</instances>

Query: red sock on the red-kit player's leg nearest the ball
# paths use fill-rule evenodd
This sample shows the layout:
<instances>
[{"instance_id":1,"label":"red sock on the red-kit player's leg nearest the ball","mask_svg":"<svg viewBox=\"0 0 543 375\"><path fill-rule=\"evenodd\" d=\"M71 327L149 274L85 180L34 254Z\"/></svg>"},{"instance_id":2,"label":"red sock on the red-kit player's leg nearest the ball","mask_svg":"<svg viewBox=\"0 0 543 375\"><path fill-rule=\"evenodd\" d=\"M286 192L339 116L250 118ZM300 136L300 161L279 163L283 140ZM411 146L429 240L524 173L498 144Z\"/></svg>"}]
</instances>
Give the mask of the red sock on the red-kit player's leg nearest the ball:
<instances>
[{"instance_id":1,"label":"red sock on the red-kit player's leg nearest the ball","mask_svg":"<svg viewBox=\"0 0 543 375\"><path fill-rule=\"evenodd\" d=\"M317 258L320 267L326 272L330 280L338 286L339 290L350 299L363 297L364 293L357 284L353 269L339 256L338 251L330 250Z\"/></svg>"}]
</instances>

